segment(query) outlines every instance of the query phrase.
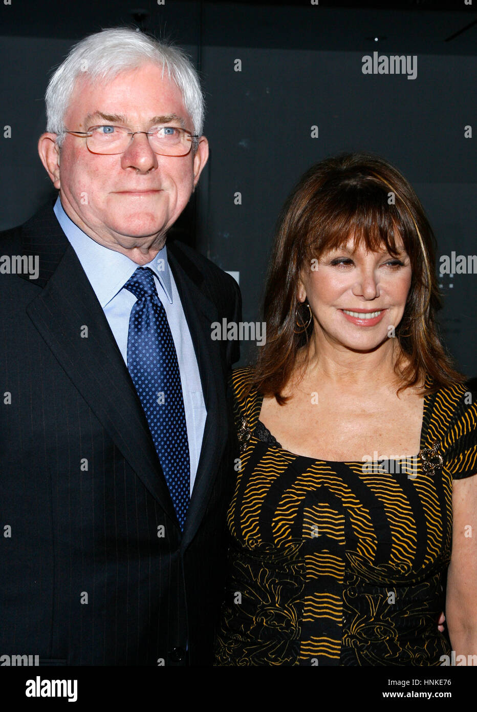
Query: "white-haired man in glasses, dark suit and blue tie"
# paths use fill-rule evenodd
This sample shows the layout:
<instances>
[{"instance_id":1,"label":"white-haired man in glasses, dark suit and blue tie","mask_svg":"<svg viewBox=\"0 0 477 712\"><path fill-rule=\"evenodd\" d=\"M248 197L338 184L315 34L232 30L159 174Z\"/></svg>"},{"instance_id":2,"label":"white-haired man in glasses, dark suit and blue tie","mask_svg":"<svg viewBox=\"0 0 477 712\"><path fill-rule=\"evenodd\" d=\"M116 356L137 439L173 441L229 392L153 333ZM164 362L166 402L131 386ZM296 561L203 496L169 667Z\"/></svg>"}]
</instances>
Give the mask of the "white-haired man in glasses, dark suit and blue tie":
<instances>
[{"instance_id":1,"label":"white-haired man in glasses, dark suit and blue tie","mask_svg":"<svg viewBox=\"0 0 477 712\"><path fill-rule=\"evenodd\" d=\"M0 649L40 664L208 665L235 435L230 276L168 229L205 162L186 56L114 28L75 46L38 150L56 189L0 253Z\"/></svg>"}]
</instances>

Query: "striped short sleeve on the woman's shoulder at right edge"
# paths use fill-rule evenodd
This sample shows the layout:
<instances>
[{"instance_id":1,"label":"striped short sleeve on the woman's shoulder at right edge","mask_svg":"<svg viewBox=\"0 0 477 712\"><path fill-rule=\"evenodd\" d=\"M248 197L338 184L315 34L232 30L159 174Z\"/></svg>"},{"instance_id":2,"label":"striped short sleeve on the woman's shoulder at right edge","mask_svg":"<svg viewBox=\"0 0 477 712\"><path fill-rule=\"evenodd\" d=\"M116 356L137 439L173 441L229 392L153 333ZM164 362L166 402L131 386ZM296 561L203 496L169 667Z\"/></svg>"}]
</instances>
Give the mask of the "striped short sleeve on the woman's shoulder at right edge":
<instances>
[{"instance_id":1,"label":"striped short sleeve on the woman's shoulder at right edge","mask_svg":"<svg viewBox=\"0 0 477 712\"><path fill-rule=\"evenodd\" d=\"M468 397L474 394L468 392ZM477 474L477 405L463 398L441 444L444 468L454 480Z\"/></svg>"}]
</instances>

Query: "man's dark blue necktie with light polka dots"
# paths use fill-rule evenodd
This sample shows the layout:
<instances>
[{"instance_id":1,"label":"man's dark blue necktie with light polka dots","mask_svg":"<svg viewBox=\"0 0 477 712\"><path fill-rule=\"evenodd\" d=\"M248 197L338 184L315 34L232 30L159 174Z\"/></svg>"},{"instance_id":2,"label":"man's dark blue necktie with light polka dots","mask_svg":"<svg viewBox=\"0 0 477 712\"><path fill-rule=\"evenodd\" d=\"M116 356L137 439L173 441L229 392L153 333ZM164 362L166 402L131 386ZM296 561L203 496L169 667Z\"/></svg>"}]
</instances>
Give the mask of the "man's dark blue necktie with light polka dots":
<instances>
[{"instance_id":1,"label":"man's dark blue necktie with light polka dots","mask_svg":"<svg viewBox=\"0 0 477 712\"><path fill-rule=\"evenodd\" d=\"M124 288L137 298L129 317L127 367L183 530L191 465L176 347L154 273L148 267L138 267Z\"/></svg>"}]
</instances>

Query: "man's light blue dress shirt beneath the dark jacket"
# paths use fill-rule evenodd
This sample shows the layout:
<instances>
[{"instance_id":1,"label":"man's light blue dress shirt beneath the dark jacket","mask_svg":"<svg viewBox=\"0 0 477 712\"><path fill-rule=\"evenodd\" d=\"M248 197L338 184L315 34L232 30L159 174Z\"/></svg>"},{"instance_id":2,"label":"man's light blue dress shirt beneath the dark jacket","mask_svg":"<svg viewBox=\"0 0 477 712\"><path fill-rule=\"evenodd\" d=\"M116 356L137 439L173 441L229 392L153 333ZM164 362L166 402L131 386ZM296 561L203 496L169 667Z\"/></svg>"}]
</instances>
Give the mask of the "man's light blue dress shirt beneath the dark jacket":
<instances>
[{"instance_id":1,"label":"man's light blue dress shirt beneath the dark jacket","mask_svg":"<svg viewBox=\"0 0 477 712\"><path fill-rule=\"evenodd\" d=\"M129 290L124 289L124 285L139 265L121 252L104 247L87 236L65 213L59 197L53 210L95 291L127 365L129 316L136 297ZM154 260L144 266L151 268L154 272L157 294L166 310L173 342L176 346L186 411L192 492L202 447L205 418L207 417L199 369L186 316L176 283L169 270L166 246L157 253Z\"/></svg>"}]
</instances>

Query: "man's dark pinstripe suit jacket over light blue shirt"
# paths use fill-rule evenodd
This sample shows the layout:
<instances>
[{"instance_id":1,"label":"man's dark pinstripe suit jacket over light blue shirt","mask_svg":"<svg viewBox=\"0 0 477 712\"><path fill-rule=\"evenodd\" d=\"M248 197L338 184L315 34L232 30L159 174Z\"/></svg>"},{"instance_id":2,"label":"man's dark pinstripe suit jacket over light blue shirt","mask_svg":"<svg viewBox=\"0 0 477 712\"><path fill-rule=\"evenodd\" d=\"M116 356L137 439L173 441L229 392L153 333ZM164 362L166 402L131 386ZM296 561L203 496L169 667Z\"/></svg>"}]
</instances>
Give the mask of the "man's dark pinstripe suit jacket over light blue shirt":
<instances>
[{"instance_id":1,"label":"man's dark pinstripe suit jacket over light blue shirt","mask_svg":"<svg viewBox=\"0 0 477 712\"><path fill-rule=\"evenodd\" d=\"M210 664L238 358L210 323L240 320L237 284L168 244L208 412L181 535L134 385L51 205L1 234L11 254L38 255L40 273L0 274L0 654L181 665L188 645L191 664Z\"/></svg>"}]
</instances>

